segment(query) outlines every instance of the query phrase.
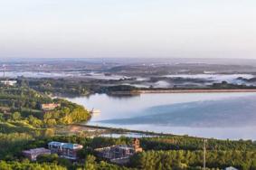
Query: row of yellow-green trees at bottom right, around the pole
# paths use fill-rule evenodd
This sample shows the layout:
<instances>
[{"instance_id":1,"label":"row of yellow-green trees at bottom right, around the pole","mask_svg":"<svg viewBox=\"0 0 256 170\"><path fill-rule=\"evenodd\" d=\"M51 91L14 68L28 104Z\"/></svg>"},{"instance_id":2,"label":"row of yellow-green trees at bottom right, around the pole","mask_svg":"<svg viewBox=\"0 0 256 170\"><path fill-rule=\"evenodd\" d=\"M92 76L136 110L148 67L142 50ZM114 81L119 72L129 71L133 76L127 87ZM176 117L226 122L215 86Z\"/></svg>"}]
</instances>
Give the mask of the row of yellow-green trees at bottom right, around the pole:
<instances>
[{"instance_id":1,"label":"row of yellow-green trees at bottom right, around the pole","mask_svg":"<svg viewBox=\"0 0 256 170\"><path fill-rule=\"evenodd\" d=\"M139 169L186 169L203 166L203 151L147 151L132 157L131 165ZM208 151L208 168L234 166L239 169L256 169L256 152Z\"/></svg>"}]
</instances>

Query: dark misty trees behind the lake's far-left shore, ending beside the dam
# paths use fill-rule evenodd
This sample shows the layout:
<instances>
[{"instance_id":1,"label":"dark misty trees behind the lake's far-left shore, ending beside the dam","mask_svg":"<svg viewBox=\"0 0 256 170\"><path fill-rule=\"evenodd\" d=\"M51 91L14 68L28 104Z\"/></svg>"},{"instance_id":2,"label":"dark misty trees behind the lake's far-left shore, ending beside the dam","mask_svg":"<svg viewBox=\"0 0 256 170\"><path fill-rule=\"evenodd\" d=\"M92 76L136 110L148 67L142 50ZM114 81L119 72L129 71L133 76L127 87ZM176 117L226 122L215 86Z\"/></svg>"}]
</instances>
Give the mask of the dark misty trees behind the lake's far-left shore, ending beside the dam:
<instances>
[{"instance_id":1,"label":"dark misty trees behind the lake's far-left shore, ending beside the dam","mask_svg":"<svg viewBox=\"0 0 256 170\"><path fill-rule=\"evenodd\" d=\"M108 93L118 90L139 90L133 86L118 85L126 80L80 80L80 79L27 79L27 85L33 90L38 90L44 94L62 96L84 96L90 93ZM113 86L115 85L115 86Z\"/></svg>"}]
</instances>

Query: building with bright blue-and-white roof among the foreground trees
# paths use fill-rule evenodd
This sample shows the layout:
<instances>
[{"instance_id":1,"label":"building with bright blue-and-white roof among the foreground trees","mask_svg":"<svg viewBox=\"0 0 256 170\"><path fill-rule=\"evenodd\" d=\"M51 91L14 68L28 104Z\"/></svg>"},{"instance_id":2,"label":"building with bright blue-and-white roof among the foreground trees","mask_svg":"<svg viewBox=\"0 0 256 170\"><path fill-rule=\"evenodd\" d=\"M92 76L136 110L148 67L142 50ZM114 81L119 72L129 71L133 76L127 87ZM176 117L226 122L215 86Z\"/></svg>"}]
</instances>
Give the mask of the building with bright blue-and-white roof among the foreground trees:
<instances>
[{"instance_id":1,"label":"building with bright blue-and-white roof among the foreground trees","mask_svg":"<svg viewBox=\"0 0 256 170\"><path fill-rule=\"evenodd\" d=\"M82 149L83 146L79 144L62 143L62 142L50 142L48 144L52 154L58 154L61 157L76 160L77 152Z\"/></svg>"}]
</instances>

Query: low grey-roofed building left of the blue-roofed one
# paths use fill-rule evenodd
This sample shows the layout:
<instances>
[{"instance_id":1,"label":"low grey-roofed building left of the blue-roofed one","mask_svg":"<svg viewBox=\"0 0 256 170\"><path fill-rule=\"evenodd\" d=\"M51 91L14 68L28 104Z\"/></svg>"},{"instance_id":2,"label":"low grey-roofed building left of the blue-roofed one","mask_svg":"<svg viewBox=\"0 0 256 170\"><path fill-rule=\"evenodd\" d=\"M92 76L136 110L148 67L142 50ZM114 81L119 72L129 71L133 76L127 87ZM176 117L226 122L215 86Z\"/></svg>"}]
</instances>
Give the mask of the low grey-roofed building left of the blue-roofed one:
<instances>
[{"instance_id":1,"label":"low grey-roofed building left of the blue-roofed one","mask_svg":"<svg viewBox=\"0 0 256 170\"><path fill-rule=\"evenodd\" d=\"M38 156L51 155L51 150L44 147L39 147L30 150L24 150L23 155L32 161L36 161Z\"/></svg>"}]
</instances>

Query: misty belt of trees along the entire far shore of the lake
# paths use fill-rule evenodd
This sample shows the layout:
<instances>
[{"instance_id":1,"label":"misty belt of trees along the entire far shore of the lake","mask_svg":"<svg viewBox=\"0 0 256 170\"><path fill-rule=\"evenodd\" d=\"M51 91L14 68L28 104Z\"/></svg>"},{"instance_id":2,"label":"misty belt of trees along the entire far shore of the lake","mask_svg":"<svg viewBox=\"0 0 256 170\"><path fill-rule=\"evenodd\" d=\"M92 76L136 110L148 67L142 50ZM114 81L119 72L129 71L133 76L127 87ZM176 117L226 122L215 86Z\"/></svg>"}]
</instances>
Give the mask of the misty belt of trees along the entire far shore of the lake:
<instances>
[{"instance_id":1,"label":"misty belt of trees along the entire far shore of the lake","mask_svg":"<svg viewBox=\"0 0 256 170\"><path fill-rule=\"evenodd\" d=\"M149 82L146 84L155 83L157 80L167 78L148 78ZM170 78L168 78L170 79ZM128 95L139 93L139 91L161 91L161 90L256 90L255 86L246 84L233 84L227 81L212 82L207 80L196 80L197 83L202 83L202 86L180 86L186 82L186 79L173 78L174 86L168 88L159 88L154 86L144 87L143 81L138 81L135 78L120 79L120 80L96 80L96 79L80 79L80 78L66 78L66 79L35 79L35 78L19 78L18 81L30 87L33 90L39 91L43 94L52 96L87 96L93 93L106 93L113 95ZM240 80L240 79L239 79ZM208 85L205 85L207 83ZM135 84L133 86L133 84ZM137 87L140 84L141 87Z\"/></svg>"}]
</instances>

